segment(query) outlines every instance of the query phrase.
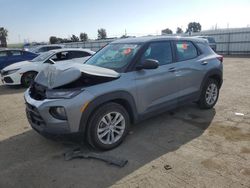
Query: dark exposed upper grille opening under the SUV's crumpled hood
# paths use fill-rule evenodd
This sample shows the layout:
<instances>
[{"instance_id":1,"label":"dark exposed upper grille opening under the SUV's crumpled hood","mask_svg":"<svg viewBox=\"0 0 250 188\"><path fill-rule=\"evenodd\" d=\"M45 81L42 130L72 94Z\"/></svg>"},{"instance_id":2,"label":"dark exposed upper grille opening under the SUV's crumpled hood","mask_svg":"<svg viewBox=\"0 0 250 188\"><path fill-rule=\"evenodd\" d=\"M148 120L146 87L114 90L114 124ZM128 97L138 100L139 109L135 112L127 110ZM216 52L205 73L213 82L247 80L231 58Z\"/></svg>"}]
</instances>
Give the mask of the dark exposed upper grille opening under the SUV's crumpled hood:
<instances>
[{"instance_id":1,"label":"dark exposed upper grille opening under the SUV's crumpled hood","mask_svg":"<svg viewBox=\"0 0 250 188\"><path fill-rule=\"evenodd\" d=\"M46 87L37 83L33 83L30 87L30 97L35 100L46 99Z\"/></svg>"}]
</instances>

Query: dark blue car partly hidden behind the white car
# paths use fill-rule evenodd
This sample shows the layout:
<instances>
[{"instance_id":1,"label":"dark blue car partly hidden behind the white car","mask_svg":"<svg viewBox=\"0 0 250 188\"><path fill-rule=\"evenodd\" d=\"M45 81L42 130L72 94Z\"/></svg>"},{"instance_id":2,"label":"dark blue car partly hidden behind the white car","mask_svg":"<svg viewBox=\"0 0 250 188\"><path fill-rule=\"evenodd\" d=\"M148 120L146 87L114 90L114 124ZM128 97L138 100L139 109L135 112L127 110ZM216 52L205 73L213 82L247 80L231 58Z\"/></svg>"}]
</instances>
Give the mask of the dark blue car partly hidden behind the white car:
<instances>
[{"instance_id":1,"label":"dark blue car partly hidden behind the white car","mask_svg":"<svg viewBox=\"0 0 250 188\"><path fill-rule=\"evenodd\" d=\"M37 56L38 54L19 49L0 49L0 70L13 63L31 60Z\"/></svg>"}]
</instances>

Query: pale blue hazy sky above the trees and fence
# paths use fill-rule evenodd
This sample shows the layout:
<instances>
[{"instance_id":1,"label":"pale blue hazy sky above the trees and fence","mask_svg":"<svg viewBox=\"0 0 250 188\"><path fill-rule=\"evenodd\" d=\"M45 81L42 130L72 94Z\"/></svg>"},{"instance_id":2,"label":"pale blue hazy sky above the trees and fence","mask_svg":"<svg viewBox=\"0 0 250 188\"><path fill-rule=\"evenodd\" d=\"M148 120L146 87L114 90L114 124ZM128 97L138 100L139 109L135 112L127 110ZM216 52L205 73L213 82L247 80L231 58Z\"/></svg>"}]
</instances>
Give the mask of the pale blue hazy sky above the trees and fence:
<instances>
[{"instance_id":1,"label":"pale blue hazy sky above the trees and fence","mask_svg":"<svg viewBox=\"0 0 250 188\"><path fill-rule=\"evenodd\" d=\"M250 27L250 0L0 0L0 27L8 43L46 42L86 32L97 38L157 35L162 29L184 31L189 22L202 30Z\"/></svg>"}]
</instances>

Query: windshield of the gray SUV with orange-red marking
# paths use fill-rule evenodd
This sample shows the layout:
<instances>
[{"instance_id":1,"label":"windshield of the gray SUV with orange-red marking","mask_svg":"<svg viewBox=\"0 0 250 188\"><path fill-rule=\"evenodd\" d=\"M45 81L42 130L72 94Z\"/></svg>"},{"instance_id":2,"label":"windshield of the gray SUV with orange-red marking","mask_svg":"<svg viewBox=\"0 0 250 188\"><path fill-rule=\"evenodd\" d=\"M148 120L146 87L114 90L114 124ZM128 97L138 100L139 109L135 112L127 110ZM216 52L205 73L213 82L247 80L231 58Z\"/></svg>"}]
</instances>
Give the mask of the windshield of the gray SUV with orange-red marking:
<instances>
[{"instance_id":1,"label":"windshield of the gray SUV with orange-red marking","mask_svg":"<svg viewBox=\"0 0 250 188\"><path fill-rule=\"evenodd\" d=\"M117 70L130 63L140 46L139 44L109 44L90 58L86 64Z\"/></svg>"}]
</instances>

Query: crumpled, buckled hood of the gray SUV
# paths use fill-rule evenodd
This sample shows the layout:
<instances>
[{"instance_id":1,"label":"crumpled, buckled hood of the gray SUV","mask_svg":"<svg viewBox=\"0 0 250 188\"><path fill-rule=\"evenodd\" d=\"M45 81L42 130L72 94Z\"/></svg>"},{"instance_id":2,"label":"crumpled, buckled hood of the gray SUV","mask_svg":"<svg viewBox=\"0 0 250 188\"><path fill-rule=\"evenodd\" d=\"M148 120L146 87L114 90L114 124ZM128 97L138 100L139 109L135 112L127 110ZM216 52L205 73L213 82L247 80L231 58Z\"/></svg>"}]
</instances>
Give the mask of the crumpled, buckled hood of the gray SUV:
<instances>
[{"instance_id":1,"label":"crumpled, buckled hood of the gray SUV","mask_svg":"<svg viewBox=\"0 0 250 188\"><path fill-rule=\"evenodd\" d=\"M37 75L35 82L53 89L74 82L81 77L82 73L108 78L120 76L116 71L107 68L79 63L63 63L61 65L48 65Z\"/></svg>"}]
</instances>

